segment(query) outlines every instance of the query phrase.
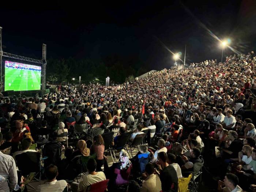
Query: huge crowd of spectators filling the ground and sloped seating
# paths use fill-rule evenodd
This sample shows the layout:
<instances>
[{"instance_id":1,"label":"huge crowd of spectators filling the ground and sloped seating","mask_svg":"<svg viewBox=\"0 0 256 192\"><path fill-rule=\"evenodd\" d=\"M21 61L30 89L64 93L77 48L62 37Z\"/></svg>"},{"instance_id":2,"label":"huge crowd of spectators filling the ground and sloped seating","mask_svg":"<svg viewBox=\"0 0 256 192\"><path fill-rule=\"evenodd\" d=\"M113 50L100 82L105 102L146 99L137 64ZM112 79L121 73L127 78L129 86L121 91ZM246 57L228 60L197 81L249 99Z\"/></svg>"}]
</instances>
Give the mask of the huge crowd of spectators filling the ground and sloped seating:
<instances>
[{"instance_id":1,"label":"huge crowd of spectators filling the ground and sloped seating","mask_svg":"<svg viewBox=\"0 0 256 192\"><path fill-rule=\"evenodd\" d=\"M47 181L37 191L86 191L106 179L109 191L125 182L125 191L178 191L178 180L200 163L218 181L210 188L256 191L255 79L252 51L223 63L163 69L116 86L58 86L56 93L40 98L1 97L0 191L20 187L19 157L38 150L53 158L44 161ZM120 154L109 167L111 151L105 151L104 138L110 132L110 146ZM144 137L133 158L127 147L117 148L127 135L127 145ZM56 147L64 159L56 158ZM91 157L87 174L81 176L80 160L86 157ZM142 157L147 159L143 170Z\"/></svg>"}]
</instances>

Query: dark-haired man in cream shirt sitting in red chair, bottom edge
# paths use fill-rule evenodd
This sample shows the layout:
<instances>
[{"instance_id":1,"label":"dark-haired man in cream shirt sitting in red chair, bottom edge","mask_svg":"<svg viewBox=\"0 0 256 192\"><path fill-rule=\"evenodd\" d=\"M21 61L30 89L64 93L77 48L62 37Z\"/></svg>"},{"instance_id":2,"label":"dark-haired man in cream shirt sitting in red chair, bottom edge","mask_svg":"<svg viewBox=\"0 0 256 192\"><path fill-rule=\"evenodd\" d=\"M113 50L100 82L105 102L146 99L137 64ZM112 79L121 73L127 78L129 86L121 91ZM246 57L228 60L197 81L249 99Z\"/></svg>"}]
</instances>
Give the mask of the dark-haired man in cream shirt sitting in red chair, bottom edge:
<instances>
[{"instance_id":1,"label":"dark-haired man in cream shirt sitting in red chair, bottom edge","mask_svg":"<svg viewBox=\"0 0 256 192\"><path fill-rule=\"evenodd\" d=\"M96 172L97 163L95 159L89 159L87 162L87 169L89 174L82 175L79 181L72 182L72 191L73 192L82 192L87 191L87 188L94 183L106 180L106 176L103 172Z\"/></svg>"}]
</instances>

